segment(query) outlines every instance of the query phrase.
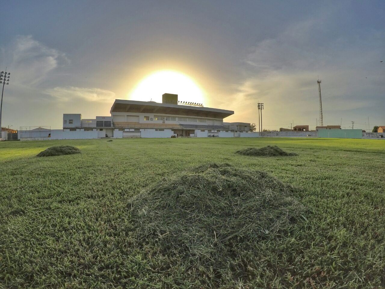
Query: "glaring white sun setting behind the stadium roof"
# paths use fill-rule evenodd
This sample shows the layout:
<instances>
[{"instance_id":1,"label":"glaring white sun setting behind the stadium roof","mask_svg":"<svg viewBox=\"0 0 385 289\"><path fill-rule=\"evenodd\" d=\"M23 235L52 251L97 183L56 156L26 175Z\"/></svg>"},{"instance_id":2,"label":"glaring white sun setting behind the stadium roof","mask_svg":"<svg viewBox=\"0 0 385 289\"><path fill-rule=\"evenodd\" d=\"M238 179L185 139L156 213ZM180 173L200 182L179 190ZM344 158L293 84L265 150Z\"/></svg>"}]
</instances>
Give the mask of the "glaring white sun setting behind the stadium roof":
<instances>
[{"instance_id":1,"label":"glaring white sun setting behind the stadium roof","mask_svg":"<svg viewBox=\"0 0 385 289\"><path fill-rule=\"evenodd\" d=\"M144 77L129 93L129 98L162 102L164 93L178 94L180 101L204 102L204 93L199 85L186 74L172 70L156 71Z\"/></svg>"}]
</instances>

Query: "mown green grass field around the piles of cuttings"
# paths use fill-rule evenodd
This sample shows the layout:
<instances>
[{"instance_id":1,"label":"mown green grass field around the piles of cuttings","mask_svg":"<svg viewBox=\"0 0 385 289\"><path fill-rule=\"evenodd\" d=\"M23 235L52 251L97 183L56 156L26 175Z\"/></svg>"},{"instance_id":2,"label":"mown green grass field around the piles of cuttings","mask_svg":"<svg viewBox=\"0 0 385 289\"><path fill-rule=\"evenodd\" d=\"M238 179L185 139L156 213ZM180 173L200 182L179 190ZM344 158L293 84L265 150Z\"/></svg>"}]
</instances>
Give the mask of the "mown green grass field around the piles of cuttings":
<instances>
[{"instance_id":1,"label":"mown green grass field around the piles of cuttings","mask_svg":"<svg viewBox=\"0 0 385 289\"><path fill-rule=\"evenodd\" d=\"M54 145L81 154L37 158ZM234 152L278 145L299 156ZM385 141L178 138L0 143L2 288L383 288ZM207 162L262 170L300 188L306 221L260 242L250 280L203 282L132 244L128 200ZM204 284L204 285L202 285Z\"/></svg>"}]
</instances>

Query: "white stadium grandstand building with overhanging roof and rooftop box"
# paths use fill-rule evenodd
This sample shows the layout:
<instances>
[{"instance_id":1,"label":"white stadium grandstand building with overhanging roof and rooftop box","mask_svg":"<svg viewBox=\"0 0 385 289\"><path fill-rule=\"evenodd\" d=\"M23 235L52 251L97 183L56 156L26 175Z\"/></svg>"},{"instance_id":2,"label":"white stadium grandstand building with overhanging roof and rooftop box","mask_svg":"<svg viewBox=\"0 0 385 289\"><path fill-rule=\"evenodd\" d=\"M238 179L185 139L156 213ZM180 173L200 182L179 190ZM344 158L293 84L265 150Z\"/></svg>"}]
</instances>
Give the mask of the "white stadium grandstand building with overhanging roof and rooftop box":
<instances>
[{"instance_id":1,"label":"white stadium grandstand building with overhanging roof and rooftop box","mask_svg":"<svg viewBox=\"0 0 385 289\"><path fill-rule=\"evenodd\" d=\"M94 138L234 137L250 133L250 123L223 122L234 111L181 103L177 94L163 94L162 103L116 99L110 114L95 119L63 114L63 132L94 132Z\"/></svg>"}]
</instances>

